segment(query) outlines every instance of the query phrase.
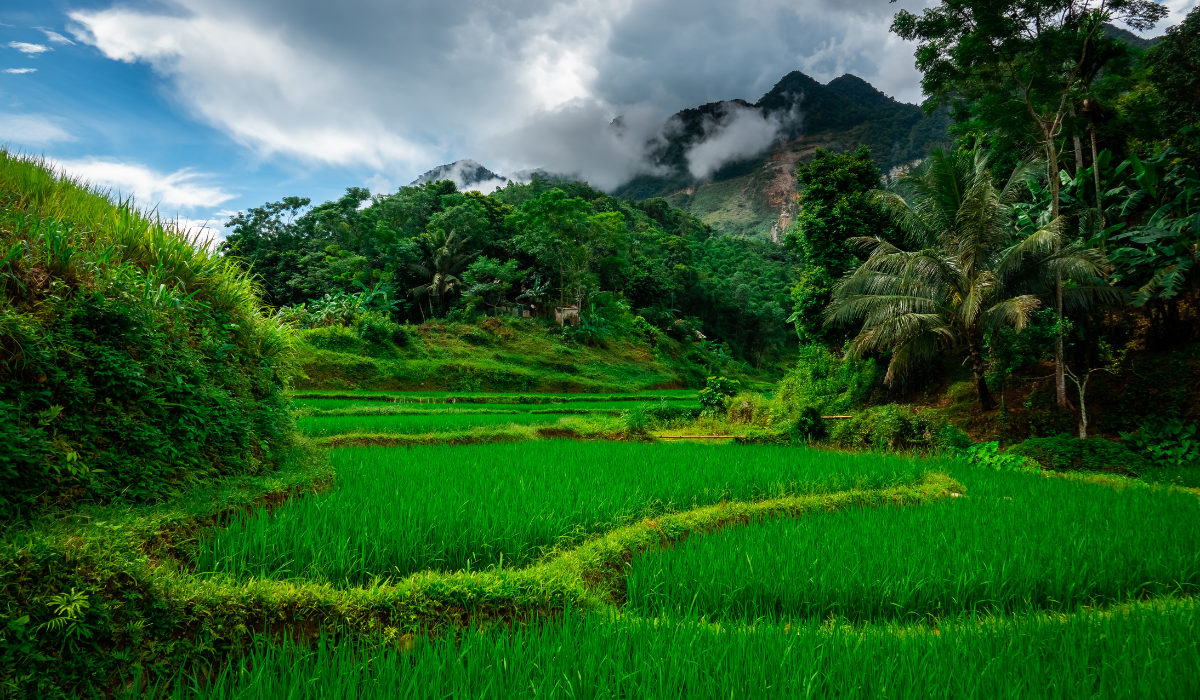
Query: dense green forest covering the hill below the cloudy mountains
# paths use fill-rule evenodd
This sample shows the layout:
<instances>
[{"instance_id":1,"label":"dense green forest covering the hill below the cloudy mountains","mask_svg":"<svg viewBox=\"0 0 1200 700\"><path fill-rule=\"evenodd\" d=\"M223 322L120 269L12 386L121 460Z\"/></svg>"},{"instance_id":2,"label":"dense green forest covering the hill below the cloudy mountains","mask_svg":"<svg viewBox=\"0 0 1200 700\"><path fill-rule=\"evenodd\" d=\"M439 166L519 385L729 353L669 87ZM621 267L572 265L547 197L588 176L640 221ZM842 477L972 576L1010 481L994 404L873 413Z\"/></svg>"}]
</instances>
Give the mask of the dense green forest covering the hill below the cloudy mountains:
<instances>
[{"instance_id":1,"label":"dense green forest covering the hill below the cloudy mountains","mask_svg":"<svg viewBox=\"0 0 1200 700\"><path fill-rule=\"evenodd\" d=\"M554 319L584 343L662 334L760 366L790 343L791 253L714 237L664 199L618 201L581 183L509 183L491 195L449 180L312 207L290 197L230 220L223 253L301 325L481 316ZM348 309L348 310L347 310ZM361 323L361 321L359 321ZM372 331L374 333L374 331Z\"/></svg>"}]
</instances>

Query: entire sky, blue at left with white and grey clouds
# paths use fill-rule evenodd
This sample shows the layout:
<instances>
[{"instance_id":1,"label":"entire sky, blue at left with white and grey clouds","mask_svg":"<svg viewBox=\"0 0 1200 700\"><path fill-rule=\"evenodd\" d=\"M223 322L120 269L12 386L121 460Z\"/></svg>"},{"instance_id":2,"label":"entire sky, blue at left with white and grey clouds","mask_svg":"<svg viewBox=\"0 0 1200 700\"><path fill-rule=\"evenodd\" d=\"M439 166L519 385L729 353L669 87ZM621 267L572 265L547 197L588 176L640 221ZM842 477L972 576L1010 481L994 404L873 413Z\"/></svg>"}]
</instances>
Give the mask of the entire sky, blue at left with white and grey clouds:
<instances>
[{"instance_id":1,"label":"entire sky, blue at left with white and grey clouds","mask_svg":"<svg viewBox=\"0 0 1200 700\"><path fill-rule=\"evenodd\" d=\"M1168 2L1163 26L1196 1ZM792 70L918 101L912 47L887 26L923 4L16 0L0 6L0 144L217 229L460 158L614 186L666 115L755 101Z\"/></svg>"}]
</instances>

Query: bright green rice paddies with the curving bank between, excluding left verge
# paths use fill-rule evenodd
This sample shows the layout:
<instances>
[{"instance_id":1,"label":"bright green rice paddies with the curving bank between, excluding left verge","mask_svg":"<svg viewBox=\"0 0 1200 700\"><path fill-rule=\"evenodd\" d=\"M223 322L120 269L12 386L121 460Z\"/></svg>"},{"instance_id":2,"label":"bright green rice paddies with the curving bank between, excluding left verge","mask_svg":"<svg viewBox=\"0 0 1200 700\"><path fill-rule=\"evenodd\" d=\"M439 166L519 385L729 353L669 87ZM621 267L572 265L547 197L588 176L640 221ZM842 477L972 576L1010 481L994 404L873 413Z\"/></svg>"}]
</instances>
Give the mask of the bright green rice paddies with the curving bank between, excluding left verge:
<instances>
[{"instance_id":1,"label":"bright green rice paddies with the curving bank between, excluding left verge","mask_svg":"<svg viewBox=\"0 0 1200 700\"><path fill-rule=\"evenodd\" d=\"M301 421L557 419L430 406ZM431 633L260 638L229 663L131 688L180 700L1200 696L1192 492L784 445L539 441L331 460L329 490L202 532L197 575L364 596L536 581L560 588L542 598L558 603Z\"/></svg>"}]
</instances>

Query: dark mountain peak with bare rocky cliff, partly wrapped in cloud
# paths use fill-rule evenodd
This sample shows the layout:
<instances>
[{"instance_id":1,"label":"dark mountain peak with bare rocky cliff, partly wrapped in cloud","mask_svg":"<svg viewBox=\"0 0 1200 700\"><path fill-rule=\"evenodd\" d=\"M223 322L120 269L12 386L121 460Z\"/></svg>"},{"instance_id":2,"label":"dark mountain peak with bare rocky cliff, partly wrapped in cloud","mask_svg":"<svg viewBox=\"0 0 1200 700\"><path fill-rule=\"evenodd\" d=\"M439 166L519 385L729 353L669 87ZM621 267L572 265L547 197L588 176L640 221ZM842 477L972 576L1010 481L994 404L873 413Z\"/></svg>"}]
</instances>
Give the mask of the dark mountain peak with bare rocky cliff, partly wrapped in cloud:
<instances>
[{"instance_id":1,"label":"dark mountain peak with bare rocky cliff, partly wrapped in cloud","mask_svg":"<svg viewBox=\"0 0 1200 700\"><path fill-rule=\"evenodd\" d=\"M733 124L730 115L778 125L775 138L758 152L698 177L695 155L721 136L722 124ZM857 76L821 84L793 71L754 104L713 102L671 116L665 142L652 155L652 164L665 174L637 177L613 193L665 197L718 233L781 240L796 216L796 167L811 160L816 148L841 151L864 144L888 174L947 140L948 125L946 115L926 116Z\"/></svg>"}]
</instances>

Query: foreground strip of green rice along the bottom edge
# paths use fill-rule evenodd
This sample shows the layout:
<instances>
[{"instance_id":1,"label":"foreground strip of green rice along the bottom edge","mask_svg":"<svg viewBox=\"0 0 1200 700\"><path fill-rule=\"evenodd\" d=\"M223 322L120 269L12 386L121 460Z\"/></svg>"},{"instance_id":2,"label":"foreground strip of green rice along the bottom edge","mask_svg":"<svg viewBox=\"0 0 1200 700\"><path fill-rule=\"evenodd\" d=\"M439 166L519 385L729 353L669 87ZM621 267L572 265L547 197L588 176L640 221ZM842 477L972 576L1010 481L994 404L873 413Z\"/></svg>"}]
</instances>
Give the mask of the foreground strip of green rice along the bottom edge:
<instances>
[{"instance_id":1,"label":"foreground strip of green rice along the bottom edge","mask_svg":"<svg viewBox=\"0 0 1200 700\"><path fill-rule=\"evenodd\" d=\"M606 615L432 641L335 647L259 641L174 700L538 698L716 700L1196 698L1200 608L1136 605L1066 618L944 621L937 629L706 624ZM406 651L397 651L397 646ZM133 688L134 692L142 688Z\"/></svg>"}]
</instances>

